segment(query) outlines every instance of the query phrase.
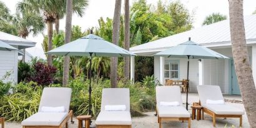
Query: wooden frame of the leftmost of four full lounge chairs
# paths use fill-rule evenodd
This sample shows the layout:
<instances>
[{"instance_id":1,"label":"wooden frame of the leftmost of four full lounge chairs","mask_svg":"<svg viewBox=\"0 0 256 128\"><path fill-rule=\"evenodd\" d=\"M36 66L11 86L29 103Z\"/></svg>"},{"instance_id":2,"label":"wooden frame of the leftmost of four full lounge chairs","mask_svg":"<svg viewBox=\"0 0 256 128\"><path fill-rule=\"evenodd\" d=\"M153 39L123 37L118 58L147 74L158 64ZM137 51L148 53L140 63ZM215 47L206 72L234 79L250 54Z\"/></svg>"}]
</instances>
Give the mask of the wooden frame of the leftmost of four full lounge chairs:
<instances>
[{"instance_id":1,"label":"wooden frame of the leftmost of four full lounge chairs","mask_svg":"<svg viewBox=\"0 0 256 128\"><path fill-rule=\"evenodd\" d=\"M72 116L73 116L73 111L70 110L67 117L61 122L61 124L59 126L22 126L22 127L23 128L62 128L65 126L66 128L68 128L67 121L69 121L69 119L71 119L71 123L74 123Z\"/></svg>"}]
</instances>

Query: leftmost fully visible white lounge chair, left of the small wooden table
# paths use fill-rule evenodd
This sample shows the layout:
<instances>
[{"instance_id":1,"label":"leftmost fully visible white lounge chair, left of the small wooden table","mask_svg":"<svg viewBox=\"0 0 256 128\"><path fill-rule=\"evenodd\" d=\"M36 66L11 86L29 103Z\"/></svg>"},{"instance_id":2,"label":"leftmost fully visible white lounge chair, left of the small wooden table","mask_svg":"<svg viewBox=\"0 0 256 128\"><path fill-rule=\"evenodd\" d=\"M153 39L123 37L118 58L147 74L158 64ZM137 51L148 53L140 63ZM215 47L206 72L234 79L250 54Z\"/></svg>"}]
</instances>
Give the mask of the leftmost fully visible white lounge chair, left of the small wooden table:
<instances>
[{"instance_id":1,"label":"leftmost fully visible white lounge chair, left of the small wooden table","mask_svg":"<svg viewBox=\"0 0 256 128\"><path fill-rule=\"evenodd\" d=\"M69 116L71 89L66 87L47 87L42 92L39 110L21 122L23 128L61 128L66 126ZM46 112L42 107L63 107L64 112Z\"/></svg>"}]
</instances>

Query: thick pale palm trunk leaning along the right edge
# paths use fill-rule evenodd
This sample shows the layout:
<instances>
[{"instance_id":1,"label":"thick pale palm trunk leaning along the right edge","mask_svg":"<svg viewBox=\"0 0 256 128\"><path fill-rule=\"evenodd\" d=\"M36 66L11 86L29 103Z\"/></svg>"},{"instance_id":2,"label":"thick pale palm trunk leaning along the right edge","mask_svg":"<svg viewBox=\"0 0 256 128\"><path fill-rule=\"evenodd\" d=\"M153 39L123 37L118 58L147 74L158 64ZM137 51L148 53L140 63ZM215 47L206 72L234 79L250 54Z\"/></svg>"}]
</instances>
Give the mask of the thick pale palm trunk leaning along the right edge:
<instances>
[{"instance_id":1,"label":"thick pale palm trunk leaning along the right edge","mask_svg":"<svg viewBox=\"0 0 256 128\"><path fill-rule=\"evenodd\" d=\"M245 41L243 1L229 0L229 17L235 72L250 127L256 127L256 89Z\"/></svg>"}]
</instances>

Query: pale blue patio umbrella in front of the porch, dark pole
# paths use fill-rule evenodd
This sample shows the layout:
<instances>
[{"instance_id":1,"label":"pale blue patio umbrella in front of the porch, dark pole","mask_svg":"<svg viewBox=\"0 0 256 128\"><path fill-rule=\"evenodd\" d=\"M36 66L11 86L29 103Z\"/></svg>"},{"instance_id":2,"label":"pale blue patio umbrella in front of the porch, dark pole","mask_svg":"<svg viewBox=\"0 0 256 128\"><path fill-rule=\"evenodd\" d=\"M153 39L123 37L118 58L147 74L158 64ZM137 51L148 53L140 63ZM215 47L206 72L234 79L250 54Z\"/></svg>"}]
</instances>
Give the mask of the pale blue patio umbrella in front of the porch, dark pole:
<instances>
[{"instance_id":1,"label":"pale blue patio umbrella in front of the porch, dark pole","mask_svg":"<svg viewBox=\"0 0 256 128\"><path fill-rule=\"evenodd\" d=\"M187 81L189 81L189 59L229 59L218 52L212 51L206 47L202 47L199 44L190 41L179 44L175 47L170 47L162 52L158 52L154 56L162 56L162 57L176 57L176 58L187 58ZM186 91L187 91L187 99L188 99L188 87L189 82L187 83ZM188 102L186 99L186 109L188 110Z\"/></svg>"}]
</instances>

